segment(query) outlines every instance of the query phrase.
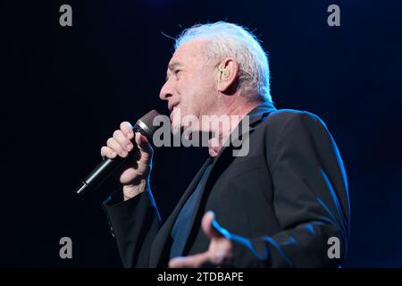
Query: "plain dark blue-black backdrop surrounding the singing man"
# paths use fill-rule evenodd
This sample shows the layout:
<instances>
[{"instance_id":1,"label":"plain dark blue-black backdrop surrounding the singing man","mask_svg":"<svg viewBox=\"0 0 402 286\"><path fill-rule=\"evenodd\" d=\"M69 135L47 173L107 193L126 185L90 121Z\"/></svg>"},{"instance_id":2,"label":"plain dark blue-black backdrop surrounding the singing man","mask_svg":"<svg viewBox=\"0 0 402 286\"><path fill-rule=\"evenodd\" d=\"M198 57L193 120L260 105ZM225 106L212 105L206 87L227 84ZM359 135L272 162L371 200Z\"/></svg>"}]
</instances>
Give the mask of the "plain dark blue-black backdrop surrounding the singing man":
<instances>
[{"instance_id":1,"label":"plain dark blue-black backdrop surrounding the singing man","mask_svg":"<svg viewBox=\"0 0 402 286\"><path fill-rule=\"evenodd\" d=\"M71 4L73 26L59 25ZM339 4L341 26L327 25ZM349 179L346 267L402 266L402 3L398 1L12 1L1 3L2 266L120 267L100 202L74 193L122 121L159 99L172 39L196 22L253 30L269 53L278 108L319 115ZM206 149L156 148L166 216ZM110 186L108 186L110 184ZM105 190L112 188L112 183ZM59 257L71 237L73 259Z\"/></svg>"}]
</instances>

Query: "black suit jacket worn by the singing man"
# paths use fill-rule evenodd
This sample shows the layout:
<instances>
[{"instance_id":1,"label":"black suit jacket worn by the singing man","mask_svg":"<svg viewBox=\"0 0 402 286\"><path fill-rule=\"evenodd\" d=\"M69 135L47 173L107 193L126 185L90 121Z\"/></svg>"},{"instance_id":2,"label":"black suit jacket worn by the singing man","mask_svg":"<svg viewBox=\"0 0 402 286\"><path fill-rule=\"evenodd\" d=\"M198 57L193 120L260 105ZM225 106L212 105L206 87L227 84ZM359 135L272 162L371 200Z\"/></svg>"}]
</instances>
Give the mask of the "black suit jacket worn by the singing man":
<instances>
[{"instance_id":1,"label":"black suit jacket worn by the singing man","mask_svg":"<svg viewBox=\"0 0 402 286\"><path fill-rule=\"evenodd\" d=\"M247 156L223 147L215 158L183 255L207 250L201 219L213 210L218 230L233 241L232 266L339 266L348 249L348 182L325 124L314 114L264 103L250 113L243 139ZM172 226L209 160L164 222L151 193L105 203L125 267L168 265ZM340 243L339 258L328 256L331 237Z\"/></svg>"}]
</instances>

